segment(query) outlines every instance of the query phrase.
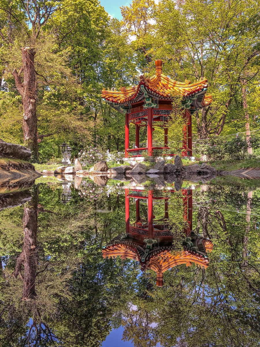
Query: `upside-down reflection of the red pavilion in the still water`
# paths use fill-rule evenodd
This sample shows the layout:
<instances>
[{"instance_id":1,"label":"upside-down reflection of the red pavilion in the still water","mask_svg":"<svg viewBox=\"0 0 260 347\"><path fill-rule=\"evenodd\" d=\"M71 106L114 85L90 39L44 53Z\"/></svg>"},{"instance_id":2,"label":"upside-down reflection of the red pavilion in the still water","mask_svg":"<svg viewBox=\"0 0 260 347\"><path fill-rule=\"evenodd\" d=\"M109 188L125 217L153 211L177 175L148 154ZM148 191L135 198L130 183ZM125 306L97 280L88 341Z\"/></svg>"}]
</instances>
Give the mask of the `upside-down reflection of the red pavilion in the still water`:
<instances>
[{"instance_id":1,"label":"upside-down reflection of the red pavilion in the still water","mask_svg":"<svg viewBox=\"0 0 260 347\"><path fill-rule=\"evenodd\" d=\"M141 270L152 269L157 274L156 285L163 286L163 273L173 266L192 263L201 268L208 267L207 251L213 244L210 240L196 235L192 231L192 190L182 189L183 220L183 251L176 252L173 245L173 233L169 226L168 205L173 190L147 191L125 189L125 228L126 233L116 236L103 247L103 257L120 256L122 259L139 261ZM135 199L136 221L130 224L129 200ZM176 197L177 198L177 197ZM140 218L140 200L148 204L148 219ZM156 219L153 214L153 202L164 201L164 218ZM185 237L186 236L186 237ZM185 238L184 238L185 237ZM174 252L175 251L175 252Z\"/></svg>"}]
</instances>

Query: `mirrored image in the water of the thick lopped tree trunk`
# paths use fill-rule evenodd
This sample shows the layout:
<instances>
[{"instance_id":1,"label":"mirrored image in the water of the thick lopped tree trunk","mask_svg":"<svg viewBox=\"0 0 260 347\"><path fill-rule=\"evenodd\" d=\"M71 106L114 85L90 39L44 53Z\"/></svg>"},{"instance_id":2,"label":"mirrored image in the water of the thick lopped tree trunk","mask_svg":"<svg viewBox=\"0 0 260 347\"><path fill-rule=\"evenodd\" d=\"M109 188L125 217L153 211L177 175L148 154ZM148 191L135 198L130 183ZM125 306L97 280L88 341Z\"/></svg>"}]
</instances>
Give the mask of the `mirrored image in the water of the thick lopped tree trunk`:
<instances>
[{"instance_id":1,"label":"mirrored image in the water of the thick lopped tree trunk","mask_svg":"<svg viewBox=\"0 0 260 347\"><path fill-rule=\"evenodd\" d=\"M17 258L13 276L19 275L23 280L22 300L29 300L36 296L35 277L36 264L38 258L37 247L37 205L38 205L38 187L34 187L35 192L32 200L24 205L24 243L23 250ZM24 265L24 276L21 274L21 266Z\"/></svg>"}]
</instances>

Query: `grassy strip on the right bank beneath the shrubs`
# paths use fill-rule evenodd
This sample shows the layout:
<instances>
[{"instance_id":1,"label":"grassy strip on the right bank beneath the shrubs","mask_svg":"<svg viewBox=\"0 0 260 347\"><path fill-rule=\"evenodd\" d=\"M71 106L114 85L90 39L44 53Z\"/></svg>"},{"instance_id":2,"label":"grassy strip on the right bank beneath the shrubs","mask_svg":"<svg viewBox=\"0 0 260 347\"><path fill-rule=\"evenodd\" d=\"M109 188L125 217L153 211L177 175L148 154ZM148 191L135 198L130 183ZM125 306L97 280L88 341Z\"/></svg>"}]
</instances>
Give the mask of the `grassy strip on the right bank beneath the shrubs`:
<instances>
[{"instance_id":1,"label":"grassy strip on the right bank beneath the shrubs","mask_svg":"<svg viewBox=\"0 0 260 347\"><path fill-rule=\"evenodd\" d=\"M242 159L242 160L226 160L212 161L208 164L219 171L233 171L248 168L260 168L260 159Z\"/></svg>"}]
</instances>

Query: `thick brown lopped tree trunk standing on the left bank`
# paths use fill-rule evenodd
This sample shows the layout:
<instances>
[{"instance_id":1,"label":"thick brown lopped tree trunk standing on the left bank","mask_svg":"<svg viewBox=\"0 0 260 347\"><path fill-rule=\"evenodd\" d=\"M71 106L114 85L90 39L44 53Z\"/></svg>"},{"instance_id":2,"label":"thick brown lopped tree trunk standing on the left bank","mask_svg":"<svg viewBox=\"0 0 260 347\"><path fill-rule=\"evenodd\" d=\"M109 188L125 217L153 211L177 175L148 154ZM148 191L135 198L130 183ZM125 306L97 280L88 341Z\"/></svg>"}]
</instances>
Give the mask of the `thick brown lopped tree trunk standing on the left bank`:
<instances>
[{"instance_id":1,"label":"thick brown lopped tree trunk standing on the left bank","mask_svg":"<svg viewBox=\"0 0 260 347\"><path fill-rule=\"evenodd\" d=\"M30 47L21 48L23 67L19 73L16 69L12 71L17 90L21 94L24 108L23 132L24 143L32 151L32 160L38 161L38 142L37 142L37 86L35 79L34 56L35 49ZM21 82L21 73L24 73L23 82Z\"/></svg>"}]
</instances>

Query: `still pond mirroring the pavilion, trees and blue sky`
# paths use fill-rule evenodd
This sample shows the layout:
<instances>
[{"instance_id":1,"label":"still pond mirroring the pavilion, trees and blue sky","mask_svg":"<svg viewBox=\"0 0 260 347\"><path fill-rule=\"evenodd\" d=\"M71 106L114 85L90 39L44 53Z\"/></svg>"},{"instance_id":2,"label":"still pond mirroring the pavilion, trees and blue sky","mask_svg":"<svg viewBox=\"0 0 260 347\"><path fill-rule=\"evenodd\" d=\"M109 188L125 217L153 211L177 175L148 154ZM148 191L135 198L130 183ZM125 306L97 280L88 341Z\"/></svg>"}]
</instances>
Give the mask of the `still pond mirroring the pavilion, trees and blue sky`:
<instances>
[{"instance_id":1,"label":"still pond mirroring the pavilion, trees and blue sky","mask_svg":"<svg viewBox=\"0 0 260 347\"><path fill-rule=\"evenodd\" d=\"M1 193L0 346L259 346L259 182Z\"/></svg>"}]
</instances>

